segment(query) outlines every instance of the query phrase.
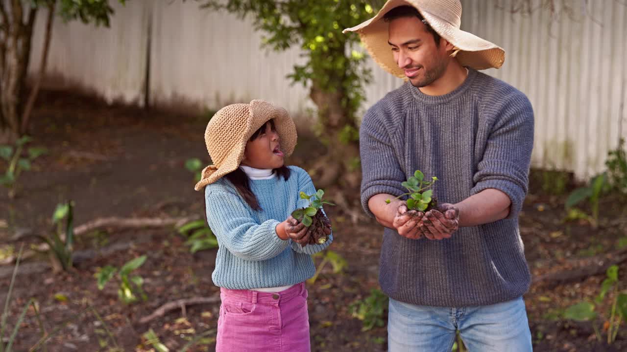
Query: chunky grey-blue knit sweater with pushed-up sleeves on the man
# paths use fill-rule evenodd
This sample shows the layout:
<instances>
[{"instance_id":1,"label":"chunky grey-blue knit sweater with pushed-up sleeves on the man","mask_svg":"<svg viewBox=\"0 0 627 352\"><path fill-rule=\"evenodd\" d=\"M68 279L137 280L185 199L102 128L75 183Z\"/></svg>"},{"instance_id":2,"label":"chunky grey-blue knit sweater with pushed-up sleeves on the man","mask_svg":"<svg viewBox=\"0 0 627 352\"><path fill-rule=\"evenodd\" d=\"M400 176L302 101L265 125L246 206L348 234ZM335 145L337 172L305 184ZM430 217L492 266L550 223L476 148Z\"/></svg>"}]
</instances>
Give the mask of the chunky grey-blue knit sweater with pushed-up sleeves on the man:
<instances>
[{"instance_id":1,"label":"chunky grey-blue knit sweater with pushed-up sleeves on the man","mask_svg":"<svg viewBox=\"0 0 627 352\"><path fill-rule=\"evenodd\" d=\"M527 97L475 70L455 91L428 96L409 83L364 116L361 201L407 192L422 170L440 179L434 194L455 204L485 189L512 200L507 219L461 227L450 239L412 240L384 230L379 283L391 298L424 306L495 304L522 296L530 273L518 213L527 192L534 116Z\"/></svg>"}]
</instances>

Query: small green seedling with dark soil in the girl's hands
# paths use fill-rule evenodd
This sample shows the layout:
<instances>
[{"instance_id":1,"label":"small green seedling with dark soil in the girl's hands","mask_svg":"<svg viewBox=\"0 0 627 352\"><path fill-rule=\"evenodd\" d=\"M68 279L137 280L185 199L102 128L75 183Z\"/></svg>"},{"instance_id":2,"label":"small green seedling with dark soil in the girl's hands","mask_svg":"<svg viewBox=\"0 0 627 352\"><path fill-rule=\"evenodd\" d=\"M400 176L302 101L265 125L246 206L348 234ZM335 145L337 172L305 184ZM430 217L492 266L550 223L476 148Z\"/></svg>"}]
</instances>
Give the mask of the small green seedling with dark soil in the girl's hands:
<instances>
[{"instance_id":1,"label":"small green seedling with dark soil in the girl's hands","mask_svg":"<svg viewBox=\"0 0 627 352\"><path fill-rule=\"evenodd\" d=\"M322 200L324 197L324 190L317 190L315 194L308 195L305 192L300 192L300 199L309 200L309 204L305 208L296 209L292 212L292 217L302 222L303 225L309 227L311 236L309 237L309 244L323 244L327 242L327 234L324 232L324 227L330 227L329 218L322 212L322 205L333 203ZM313 227L312 227L313 226Z\"/></svg>"}]
</instances>

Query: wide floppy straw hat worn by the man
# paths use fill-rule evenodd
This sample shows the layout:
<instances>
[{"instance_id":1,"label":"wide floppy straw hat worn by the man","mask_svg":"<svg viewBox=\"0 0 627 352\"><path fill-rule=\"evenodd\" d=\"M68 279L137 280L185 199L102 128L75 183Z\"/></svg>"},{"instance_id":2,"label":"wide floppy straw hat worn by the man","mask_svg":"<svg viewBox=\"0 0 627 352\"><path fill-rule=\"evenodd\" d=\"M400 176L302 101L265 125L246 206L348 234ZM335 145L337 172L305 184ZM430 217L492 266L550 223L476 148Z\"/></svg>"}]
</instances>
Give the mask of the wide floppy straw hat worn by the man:
<instances>
[{"instance_id":1,"label":"wide floppy straw hat worn by the man","mask_svg":"<svg viewBox=\"0 0 627 352\"><path fill-rule=\"evenodd\" d=\"M485 70L500 68L503 65L505 50L460 29L461 3L459 0L389 0L374 18L358 26L344 29L343 33L359 33L362 43L379 66L395 76L406 78L404 71L394 60L392 50L387 43L389 24L383 19L388 11L404 5L416 8L431 28L455 46L455 57L462 66Z\"/></svg>"}]
</instances>

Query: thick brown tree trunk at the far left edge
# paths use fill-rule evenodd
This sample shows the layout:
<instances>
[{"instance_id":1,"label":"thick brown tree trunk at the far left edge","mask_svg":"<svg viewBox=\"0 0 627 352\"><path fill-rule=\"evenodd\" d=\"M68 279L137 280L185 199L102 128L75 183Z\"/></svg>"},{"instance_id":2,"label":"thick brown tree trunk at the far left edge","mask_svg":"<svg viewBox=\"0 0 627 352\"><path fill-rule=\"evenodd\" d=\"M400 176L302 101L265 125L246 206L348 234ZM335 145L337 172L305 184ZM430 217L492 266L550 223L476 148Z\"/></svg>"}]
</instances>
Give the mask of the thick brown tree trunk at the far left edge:
<instances>
[{"instance_id":1,"label":"thick brown tree trunk at the far left edge","mask_svg":"<svg viewBox=\"0 0 627 352\"><path fill-rule=\"evenodd\" d=\"M6 3L5 3L6 4ZM6 14L2 5L3 16ZM3 58L0 67L0 113L2 124L0 137L14 140L19 136L23 103L21 93L26 82L29 56L31 53L31 34L36 15L36 8L28 8L24 19L21 0L11 1L11 19L3 26ZM24 21L25 20L25 21Z\"/></svg>"}]
</instances>

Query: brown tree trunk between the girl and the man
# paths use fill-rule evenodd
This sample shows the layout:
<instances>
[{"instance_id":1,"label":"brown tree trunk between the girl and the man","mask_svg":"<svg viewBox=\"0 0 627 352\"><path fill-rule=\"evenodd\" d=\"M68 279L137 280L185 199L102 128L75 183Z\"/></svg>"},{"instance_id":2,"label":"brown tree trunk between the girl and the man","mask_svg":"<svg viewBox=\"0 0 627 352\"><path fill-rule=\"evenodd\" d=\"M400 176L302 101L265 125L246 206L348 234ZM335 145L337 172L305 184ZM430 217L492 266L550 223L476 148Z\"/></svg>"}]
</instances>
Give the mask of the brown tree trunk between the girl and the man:
<instances>
[{"instance_id":1,"label":"brown tree trunk between the girl and the man","mask_svg":"<svg viewBox=\"0 0 627 352\"><path fill-rule=\"evenodd\" d=\"M314 173L318 175L317 186L326 188L340 184L344 187L357 187L361 170L354 164L359 158L359 143L355 141L345 143L340 138L342 130L347 125L356 128L354 119L342 105L344 91L325 91L314 82L309 96L318 106L319 120L328 142L327 148L332 151L313 168Z\"/></svg>"}]
</instances>

